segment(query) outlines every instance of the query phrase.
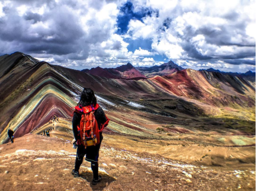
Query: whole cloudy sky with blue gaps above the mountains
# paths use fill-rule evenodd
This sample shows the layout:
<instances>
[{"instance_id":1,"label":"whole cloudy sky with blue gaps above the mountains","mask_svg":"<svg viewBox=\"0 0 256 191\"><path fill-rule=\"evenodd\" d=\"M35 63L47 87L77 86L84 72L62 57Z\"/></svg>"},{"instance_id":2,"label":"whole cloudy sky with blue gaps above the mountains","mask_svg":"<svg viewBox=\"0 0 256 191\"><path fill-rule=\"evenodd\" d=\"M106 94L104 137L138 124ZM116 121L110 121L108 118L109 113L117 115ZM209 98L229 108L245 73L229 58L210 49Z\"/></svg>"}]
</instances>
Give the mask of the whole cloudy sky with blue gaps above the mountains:
<instances>
[{"instance_id":1,"label":"whole cloudy sky with blue gaps above the mountains","mask_svg":"<svg viewBox=\"0 0 256 191\"><path fill-rule=\"evenodd\" d=\"M1 0L0 55L255 71L255 0Z\"/></svg>"}]
</instances>

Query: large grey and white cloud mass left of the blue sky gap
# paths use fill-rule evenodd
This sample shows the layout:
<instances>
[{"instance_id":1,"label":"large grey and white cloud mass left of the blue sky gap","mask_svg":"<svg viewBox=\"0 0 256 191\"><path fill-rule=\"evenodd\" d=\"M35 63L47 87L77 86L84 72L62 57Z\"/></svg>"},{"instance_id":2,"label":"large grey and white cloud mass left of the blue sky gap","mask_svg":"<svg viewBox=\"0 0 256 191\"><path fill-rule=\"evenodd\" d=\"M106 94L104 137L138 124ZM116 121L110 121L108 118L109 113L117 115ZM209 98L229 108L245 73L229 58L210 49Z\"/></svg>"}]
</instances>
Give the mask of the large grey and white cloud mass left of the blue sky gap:
<instances>
[{"instance_id":1,"label":"large grey and white cloud mass left of the blue sky gap","mask_svg":"<svg viewBox=\"0 0 256 191\"><path fill-rule=\"evenodd\" d=\"M4 2L2 17L0 10L0 53L21 51L52 63L80 62L89 56L104 60L113 54L108 50L121 51L123 47L122 38L110 40L116 7L101 0ZM102 48L101 43L109 40L111 43Z\"/></svg>"}]
</instances>

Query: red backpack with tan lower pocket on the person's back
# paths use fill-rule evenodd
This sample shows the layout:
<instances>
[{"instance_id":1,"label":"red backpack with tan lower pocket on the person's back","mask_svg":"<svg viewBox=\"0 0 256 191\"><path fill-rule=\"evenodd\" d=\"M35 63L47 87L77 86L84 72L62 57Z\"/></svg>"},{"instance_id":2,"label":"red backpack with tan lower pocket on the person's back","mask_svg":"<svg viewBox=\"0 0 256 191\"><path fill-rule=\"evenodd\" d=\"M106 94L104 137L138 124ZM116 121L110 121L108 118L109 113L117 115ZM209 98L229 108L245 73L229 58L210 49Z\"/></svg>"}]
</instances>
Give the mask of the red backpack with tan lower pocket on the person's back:
<instances>
[{"instance_id":1,"label":"red backpack with tan lower pocket on the person's back","mask_svg":"<svg viewBox=\"0 0 256 191\"><path fill-rule=\"evenodd\" d=\"M99 105L87 105L85 107L79 108L79 106L75 107L75 112L80 113L81 121L78 129L80 129L80 137L81 140L78 140L78 145L87 146L98 145L100 143L99 140L99 127L97 120L94 116L94 111L99 108ZM102 129L101 129L102 131Z\"/></svg>"}]
</instances>

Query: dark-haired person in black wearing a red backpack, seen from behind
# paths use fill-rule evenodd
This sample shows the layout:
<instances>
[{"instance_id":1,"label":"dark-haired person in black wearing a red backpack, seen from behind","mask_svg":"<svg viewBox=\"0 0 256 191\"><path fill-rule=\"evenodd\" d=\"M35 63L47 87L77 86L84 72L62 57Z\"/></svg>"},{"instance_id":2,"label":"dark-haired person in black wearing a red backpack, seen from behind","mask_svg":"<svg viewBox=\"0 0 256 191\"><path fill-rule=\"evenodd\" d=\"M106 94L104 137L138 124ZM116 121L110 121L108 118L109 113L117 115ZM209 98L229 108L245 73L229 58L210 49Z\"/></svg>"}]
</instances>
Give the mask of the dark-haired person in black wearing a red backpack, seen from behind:
<instances>
[{"instance_id":1,"label":"dark-haired person in black wearing a red backpack, seen from behind","mask_svg":"<svg viewBox=\"0 0 256 191\"><path fill-rule=\"evenodd\" d=\"M79 168L83 162L84 155L86 155L85 160L91 162L93 171L92 184L97 184L102 180L102 177L98 174L99 148L103 139L102 130L108 125L108 122L108 117L97 104L93 90L84 88L81 92L80 101L75 107L72 120L73 133L76 140L74 145L77 145L75 168L72 171L74 177L79 177Z\"/></svg>"}]
</instances>

